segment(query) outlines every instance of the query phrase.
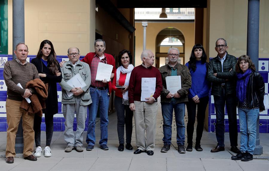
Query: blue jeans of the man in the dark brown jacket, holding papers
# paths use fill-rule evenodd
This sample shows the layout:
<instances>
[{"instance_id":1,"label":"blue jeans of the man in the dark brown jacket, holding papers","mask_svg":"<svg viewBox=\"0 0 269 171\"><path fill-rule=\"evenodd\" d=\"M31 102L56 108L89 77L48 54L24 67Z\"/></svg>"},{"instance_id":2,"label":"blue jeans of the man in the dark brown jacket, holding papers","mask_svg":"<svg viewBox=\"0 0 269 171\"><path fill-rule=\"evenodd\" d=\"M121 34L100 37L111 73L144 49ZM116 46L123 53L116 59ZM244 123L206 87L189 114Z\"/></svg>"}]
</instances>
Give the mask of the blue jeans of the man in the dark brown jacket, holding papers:
<instances>
[{"instance_id":1,"label":"blue jeans of the man in the dark brown jacket, holding papers","mask_svg":"<svg viewBox=\"0 0 269 171\"><path fill-rule=\"evenodd\" d=\"M172 121L173 110L175 111L175 121L177 125L177 144L184 145L185 143L185 103L176 103L171 101L170 103L161 103L162 115L163 115L163 143L171 145L172 139Z\"/></svg>"}]
</instances>

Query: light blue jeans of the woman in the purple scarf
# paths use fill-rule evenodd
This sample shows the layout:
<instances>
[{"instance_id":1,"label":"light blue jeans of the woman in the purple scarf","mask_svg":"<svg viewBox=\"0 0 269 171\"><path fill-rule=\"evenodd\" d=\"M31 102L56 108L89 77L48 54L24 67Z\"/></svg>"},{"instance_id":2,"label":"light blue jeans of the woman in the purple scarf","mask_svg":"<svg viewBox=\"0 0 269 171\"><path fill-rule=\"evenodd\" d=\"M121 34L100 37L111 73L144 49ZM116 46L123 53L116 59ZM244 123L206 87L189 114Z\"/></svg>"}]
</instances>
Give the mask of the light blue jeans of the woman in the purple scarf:
<instances>
[{"instance_id":1,"label":"light blue jeans of the woman in the purple scarf","mask_svg":"<svg viewBox=\"0 0 269 171\"><path fill-rule=\"evenodd\" d=\"M256 123L259 116L259 109L238 108L240 124L240 151L249 152L253 155L256 144Z\"/></svg>"}]
</instances>

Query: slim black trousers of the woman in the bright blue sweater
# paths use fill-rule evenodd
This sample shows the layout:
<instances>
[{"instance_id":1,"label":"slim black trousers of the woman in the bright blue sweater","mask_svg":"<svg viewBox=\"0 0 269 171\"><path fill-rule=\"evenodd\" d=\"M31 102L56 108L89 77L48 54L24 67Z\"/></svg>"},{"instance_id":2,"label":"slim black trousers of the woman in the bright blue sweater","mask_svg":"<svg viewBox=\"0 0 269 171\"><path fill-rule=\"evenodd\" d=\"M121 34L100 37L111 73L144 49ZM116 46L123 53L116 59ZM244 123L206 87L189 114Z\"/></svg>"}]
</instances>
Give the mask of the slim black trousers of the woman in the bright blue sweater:
<instances>
[{"instance_id":1,"label":"slim black trousers of the woman in the bright blue sweater","mask_svg":"<svg viewBox=\"0 0 269 171\"><path fill-rule=\"evenodd\" d=\"M205 111L207 109L209 97L202 97L199 99L200 103L195 103L192 99L186 103L187 112L188 112L188 124L187 124L187 142L192 144L192 137L194 131L195 115L196 115L196 106L197 106L197 127L196 127L196 143L201 143L201 138L204 130L204 117Z\"/></svg>"}]
</instances>

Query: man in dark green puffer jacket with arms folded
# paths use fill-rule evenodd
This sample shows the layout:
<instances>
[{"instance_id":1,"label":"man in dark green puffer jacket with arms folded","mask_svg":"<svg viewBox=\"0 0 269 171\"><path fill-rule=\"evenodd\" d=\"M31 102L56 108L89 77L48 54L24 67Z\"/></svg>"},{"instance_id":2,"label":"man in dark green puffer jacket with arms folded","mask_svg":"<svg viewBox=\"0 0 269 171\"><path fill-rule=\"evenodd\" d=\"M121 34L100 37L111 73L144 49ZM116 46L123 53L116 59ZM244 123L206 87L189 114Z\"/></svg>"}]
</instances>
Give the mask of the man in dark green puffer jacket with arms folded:
<instances>
[{"instance_id":1,"label":"man in dark green puffer jacket with arms folded","mask_svg":"<svg viewBox=\"0 0 269 171\"><path fill-rule=\"evenodd\" d=\"M208 65L208 81L212 82L211 95L214 96L216 111L216 138L218 144L211 152L224 151L224 109L227 106L231 151L239 153L237 148L236 119L236 57L227 53L227 42L223 38L216 41L218 56Z\"/></svg>"}]
</instances>

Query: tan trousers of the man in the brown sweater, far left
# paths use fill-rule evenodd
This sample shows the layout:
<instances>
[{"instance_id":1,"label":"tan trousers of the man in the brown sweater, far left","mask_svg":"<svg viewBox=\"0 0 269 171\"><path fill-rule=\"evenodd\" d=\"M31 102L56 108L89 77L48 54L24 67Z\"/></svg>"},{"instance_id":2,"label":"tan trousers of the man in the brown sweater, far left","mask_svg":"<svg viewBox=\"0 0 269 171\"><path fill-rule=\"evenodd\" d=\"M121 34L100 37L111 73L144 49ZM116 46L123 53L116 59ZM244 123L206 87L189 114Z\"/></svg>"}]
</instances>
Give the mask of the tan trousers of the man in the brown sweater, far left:
<instances>
[{"instance_id":1,"label":"tan trousers of the man in the brown sweater, far left","mask_svg":"<svg viewBox=\"0 0 269 171\"><path fill-rule=\"evenodd\" d=\"M27 157L33 154L33 144L35 132L33 130L34 115L28 115L28 112L20 109L22 101L7 99L7 147L6 157L15 157L15 139L18 131L19 122L22 117L23 128L23 156Z\"/></svg>"}]
</instances>

